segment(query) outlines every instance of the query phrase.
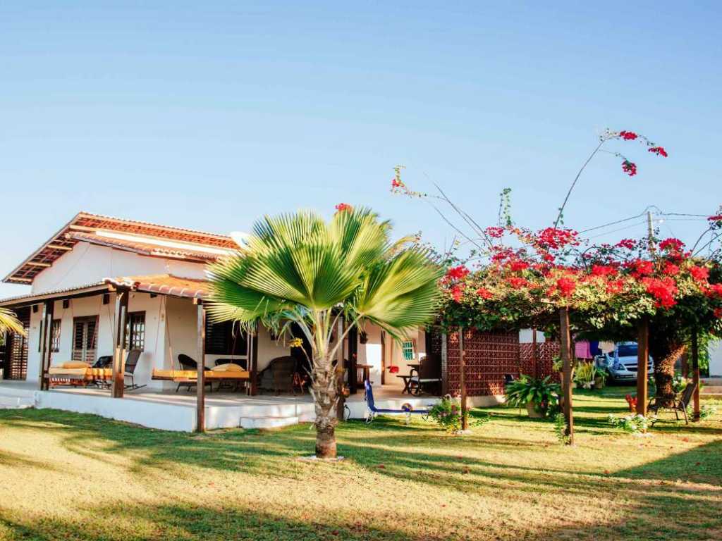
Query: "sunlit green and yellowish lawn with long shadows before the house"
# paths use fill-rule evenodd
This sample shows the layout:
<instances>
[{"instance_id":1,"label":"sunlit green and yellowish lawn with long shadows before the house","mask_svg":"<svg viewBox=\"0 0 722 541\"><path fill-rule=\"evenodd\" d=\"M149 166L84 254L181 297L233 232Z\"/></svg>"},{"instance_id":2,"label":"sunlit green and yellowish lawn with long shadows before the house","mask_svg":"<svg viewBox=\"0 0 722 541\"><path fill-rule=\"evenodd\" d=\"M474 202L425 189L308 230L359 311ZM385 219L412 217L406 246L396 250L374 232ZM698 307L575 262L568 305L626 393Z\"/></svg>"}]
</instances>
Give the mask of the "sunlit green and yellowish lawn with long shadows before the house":
<instances>
[{"instance_id":1,"label":"sunlit green and yellowish lawn with long shadows before the house","mask_svg":"<svg viewBox=\"0 0 722 541\"><path fill-rule=\"evenodd\" d=\"M606 423L629 391L578 392L573 448L494 408L463 438L344 423L335 465L296 459L308 425L196 436L1 410L0 539L722 539L722 415L637 438Z\"/></svg>"}]
</instances>

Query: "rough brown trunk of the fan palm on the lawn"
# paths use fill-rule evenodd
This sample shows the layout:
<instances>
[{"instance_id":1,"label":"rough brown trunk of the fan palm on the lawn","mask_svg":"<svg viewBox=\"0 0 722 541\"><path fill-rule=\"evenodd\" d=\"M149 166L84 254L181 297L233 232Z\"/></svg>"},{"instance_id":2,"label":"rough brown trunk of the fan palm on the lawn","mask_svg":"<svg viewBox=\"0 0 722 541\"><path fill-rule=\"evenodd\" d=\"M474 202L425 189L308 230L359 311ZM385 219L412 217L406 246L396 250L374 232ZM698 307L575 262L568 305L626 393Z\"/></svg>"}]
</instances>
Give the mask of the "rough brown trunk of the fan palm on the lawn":
<instances>
[{"instance_id":1,"label":"rough brown trunk of the fan palm on the lawn","mask_svg":"<svg viewBox=\"0 0 722 541\"><path fill-rule=\"evenodd\" d=\"M316 457L336 458L335 428L339 420L336 418L336 386L335 367L330 360L313 362L313 398L316 404Z\"/></svg>"}]
</instances>

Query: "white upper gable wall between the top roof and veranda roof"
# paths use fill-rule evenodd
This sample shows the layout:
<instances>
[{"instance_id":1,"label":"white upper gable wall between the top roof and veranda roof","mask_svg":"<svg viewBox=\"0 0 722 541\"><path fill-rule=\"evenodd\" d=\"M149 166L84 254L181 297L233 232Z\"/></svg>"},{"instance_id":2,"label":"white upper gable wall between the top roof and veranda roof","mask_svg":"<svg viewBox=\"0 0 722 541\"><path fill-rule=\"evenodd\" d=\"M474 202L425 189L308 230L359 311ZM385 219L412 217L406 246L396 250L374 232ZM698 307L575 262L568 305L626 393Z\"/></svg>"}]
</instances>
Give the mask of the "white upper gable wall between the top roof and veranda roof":
<instances>
[{"instance_id":1,"label":"white upper gable wall between the top roof and veranda roof","mask_svg":"<svg viewBox=\"0 0 722 541\"><path fill-rule=\"evenodd\" d=\"M172 258L152 258L105 246L79 242L73 250L58 258L32 282L33 294L97 283L117 276L172 274L179 278L205 278L202 263Z\"/></svg>"}]
</instances>

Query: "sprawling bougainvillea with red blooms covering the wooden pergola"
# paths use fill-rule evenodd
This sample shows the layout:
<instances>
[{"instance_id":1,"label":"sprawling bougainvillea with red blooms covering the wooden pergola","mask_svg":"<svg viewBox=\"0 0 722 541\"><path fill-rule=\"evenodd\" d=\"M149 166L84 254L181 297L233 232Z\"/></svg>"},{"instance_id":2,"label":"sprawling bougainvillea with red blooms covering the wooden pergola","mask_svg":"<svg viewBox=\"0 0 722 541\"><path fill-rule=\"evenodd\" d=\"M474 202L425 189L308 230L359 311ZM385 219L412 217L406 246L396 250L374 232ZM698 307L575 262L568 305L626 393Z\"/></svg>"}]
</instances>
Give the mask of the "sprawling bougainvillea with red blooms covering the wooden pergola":
<instances>
[{"instance_id":1,"label":"sprawling bougainvillea with red blooms covering the wooden pergola","mask_svg":"<svg viewBox=\"0 0 722 541\"><path fill-rule=\"evenodd\" d=\"M497 224L485 228L441 188L438 195L409 188L401 179L401 167L396 167L391 191L430 203L471 247L467 258L440 257L445 262L456 260L440 283L444 325L479 330L539 327L556 335L563 307L569 309L577 335L635 340L638 325L648 320L656 394L663 402L671 401L674 362L692 334L704 342L721 330L722 269L720 252L711 250L711 243L722 237L722 210L709 217L707 231L691 248L679 239L656 235L613 245L592 245L582 239L562 225L563 213L591 159L599 153L612 154L622 159L622 172L638 175L637 163L630 157L606 149L612 143L641 143L650 155L669 156L664 147L634 131L602 132L557 209L554 225L537 231L516 226L510 219L508 190L502 193ZM451 217L438 202L451 209ZM707 233L711 233L709 241L700 245Z\"/></svg>"}]
</instances>

